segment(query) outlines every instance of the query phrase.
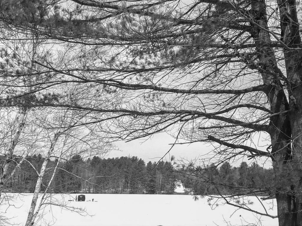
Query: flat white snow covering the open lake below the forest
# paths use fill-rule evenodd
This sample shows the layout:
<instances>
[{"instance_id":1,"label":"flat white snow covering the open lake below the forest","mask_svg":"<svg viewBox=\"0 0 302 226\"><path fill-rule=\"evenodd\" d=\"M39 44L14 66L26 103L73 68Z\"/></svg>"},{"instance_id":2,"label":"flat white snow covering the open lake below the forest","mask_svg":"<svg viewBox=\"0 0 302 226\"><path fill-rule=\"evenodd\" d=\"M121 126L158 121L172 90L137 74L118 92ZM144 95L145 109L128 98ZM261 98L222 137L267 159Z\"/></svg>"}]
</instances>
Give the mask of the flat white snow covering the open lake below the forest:
<instances>
[{"instance_id":1,"label":"flat white snow covering the open lake below the forest","mask_svg":"<svg viewBox=\"0 0 302 226\"><path fill-rule=\"evenodd\" d=\"M11 218L14 225L23 225L27 218L32 194L8 194L13 197L6 204L0 205L0 215ZM37 225L55 226L223 226L223 225L278 225L278 219L255 215L245 210L236 210L229 205L220 205L214 210L207 205L207 198L194 201L191 195L147 195L147 194L85 194L85 202L68 201L75 199L76 194L55 194L49 201L65 202L71 208L85 208L87 213L71 212L61 206L45 206L43 219ZM94 199L94 202L92 202ZM242 198L241 198L242 199ZM254 202L252 209L263 211L256 197L250 196ZM91 201L90 201L91 200ZM97 201L97 202L95 202ZM269 204L275 200L265 200ZM14 205L14 206L12 206ZM268 208L269 209L269 208ZM268 210L276 215L276 206ZM89 214L89 215L87 215ZM257 219L258 218L258 219ZM260 221L259 221L260 219ZM227 223L230 222L230 223Z\"/></svg>"}]
</instances>

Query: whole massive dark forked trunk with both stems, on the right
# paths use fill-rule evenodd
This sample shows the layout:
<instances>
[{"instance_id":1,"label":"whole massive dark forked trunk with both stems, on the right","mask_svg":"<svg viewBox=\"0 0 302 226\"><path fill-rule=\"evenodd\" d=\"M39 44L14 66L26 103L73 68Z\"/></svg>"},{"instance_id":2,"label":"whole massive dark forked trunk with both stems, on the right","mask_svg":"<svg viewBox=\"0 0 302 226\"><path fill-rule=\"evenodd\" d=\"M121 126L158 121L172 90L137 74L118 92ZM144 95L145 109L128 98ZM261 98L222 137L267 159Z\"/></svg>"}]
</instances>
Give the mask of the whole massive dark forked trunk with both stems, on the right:
<instances>
[{"instance_id":1,"label":"whole massive dark forked trunk with both stems, on the right","mask_svg":"<svg viewBox=\"0 0 302 226\"><path fill-rule=\"evenodd\" d=\"M259 53L259 64L265 69L261 74L263 83L268 86L265 93L271 111L276 113L290 110L288 115L272 117L270 122L279 225L302 226L302 46L296 2L277 0L277 3L280 11L281 40L288 46L284 48L286 76L282 76L278 68L274 50L266 45L271 43L271 39L270 34L262 29L268 27L264 0L252 2L253 22L257 25L251 23L253 27L251 34ZM289 100L286 98L281 80L287 83Z\"/></svg>"}]
</instances>

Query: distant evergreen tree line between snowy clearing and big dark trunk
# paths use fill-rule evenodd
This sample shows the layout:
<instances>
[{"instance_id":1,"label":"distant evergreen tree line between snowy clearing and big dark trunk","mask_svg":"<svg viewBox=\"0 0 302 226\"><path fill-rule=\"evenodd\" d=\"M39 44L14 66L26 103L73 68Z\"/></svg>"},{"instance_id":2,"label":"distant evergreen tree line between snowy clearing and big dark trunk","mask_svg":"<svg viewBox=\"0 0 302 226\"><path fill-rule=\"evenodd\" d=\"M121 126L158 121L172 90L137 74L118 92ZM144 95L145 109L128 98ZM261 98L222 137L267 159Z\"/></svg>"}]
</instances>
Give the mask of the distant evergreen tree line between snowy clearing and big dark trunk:
<instances>
[{"instance_id":1,"label":"distant evergreen tree line between snowy clearing and big dark trunk","mask_svg":"<svg viewBox=\"0 0 302 226\"><path fill-rule=\"evenodd\" d=\"M239 167L224 162L206 167L188 167L178 170L178 175L187 192L194 195L270 195L273 194L273 170L241 162Z\"/></svg>"}]
</instances>

